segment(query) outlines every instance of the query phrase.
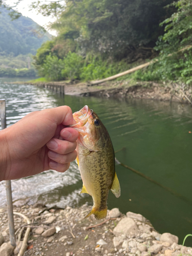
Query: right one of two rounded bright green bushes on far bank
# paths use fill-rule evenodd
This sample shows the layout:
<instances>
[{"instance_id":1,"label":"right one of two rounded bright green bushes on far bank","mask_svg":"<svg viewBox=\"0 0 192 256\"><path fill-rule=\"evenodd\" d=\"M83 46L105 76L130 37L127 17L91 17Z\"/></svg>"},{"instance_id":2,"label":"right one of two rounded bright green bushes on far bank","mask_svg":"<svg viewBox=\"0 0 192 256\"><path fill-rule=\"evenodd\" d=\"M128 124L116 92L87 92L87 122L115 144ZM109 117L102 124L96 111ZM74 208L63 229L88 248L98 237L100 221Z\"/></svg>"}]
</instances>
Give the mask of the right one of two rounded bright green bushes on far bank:
<instances>
[{"instance_id":1,"label":"right one of two rounded bright green bushes on far bank","mask_svg":"<svg viewBox=\"0 0 192 256\"><path fill-rule=\"evenodd\" d=\"M66 58L63 59L65 69L62 70L61 75L72 79L79 79L81 69L83 66L83 59L76 53L69 52Z\"/></svg>"}]
</instances>

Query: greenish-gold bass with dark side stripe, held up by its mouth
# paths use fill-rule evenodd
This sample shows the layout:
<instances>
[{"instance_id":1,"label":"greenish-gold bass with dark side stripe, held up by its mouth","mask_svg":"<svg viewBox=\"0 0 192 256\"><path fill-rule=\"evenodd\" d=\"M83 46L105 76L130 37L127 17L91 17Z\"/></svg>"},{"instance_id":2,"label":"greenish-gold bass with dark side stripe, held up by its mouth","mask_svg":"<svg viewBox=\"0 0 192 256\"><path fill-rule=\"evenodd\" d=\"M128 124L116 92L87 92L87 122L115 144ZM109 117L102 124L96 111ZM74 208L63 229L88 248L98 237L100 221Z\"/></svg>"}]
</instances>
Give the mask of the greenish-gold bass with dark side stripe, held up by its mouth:
<instances>
[{"instance_id":1,"label":"greenish-gold bass with dark side stripe, held up by its mouth","mask_svg":"<svg viewBox=\"0 0 192 256\"><path fill-rule=\"evenodd\" d=\"M70 126L79 132L76 162L83 182L80 194L87 193L93 198L93 208L84 218L94 214L100 220L107 215L109 190L120 197L113 144L105 126L88 105L73 113L73 118L76 124Z\"/></svg>"}]
</instances>

